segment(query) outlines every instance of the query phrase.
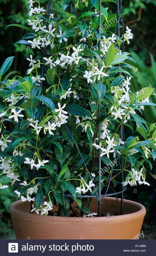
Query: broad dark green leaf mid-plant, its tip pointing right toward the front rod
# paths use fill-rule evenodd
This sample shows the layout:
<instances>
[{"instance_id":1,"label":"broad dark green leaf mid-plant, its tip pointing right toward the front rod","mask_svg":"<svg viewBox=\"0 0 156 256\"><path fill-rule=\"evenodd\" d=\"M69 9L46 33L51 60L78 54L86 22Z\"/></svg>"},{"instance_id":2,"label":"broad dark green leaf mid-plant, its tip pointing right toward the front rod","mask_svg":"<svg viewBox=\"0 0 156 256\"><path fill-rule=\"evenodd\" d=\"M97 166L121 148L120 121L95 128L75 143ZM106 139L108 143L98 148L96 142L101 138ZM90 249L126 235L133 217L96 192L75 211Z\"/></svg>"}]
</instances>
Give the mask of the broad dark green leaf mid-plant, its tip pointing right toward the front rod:
<instances>
[{"instance_id":1,"label":"broad dark green leaf mid-plant, its tip pointing right toward the front rod","mask_svg":"<svg viewBox=\"0 0 156 256\"><path fill-rule=\"evenodd\" d=\"M74 104L72 107L71 107L71 104L68 104L66 106L66 109L70 114L73 114L75 116L92 117L91 114L85 108L83 108L83 107L81 107L80 105L77 105L77 104ZM70 109L70 110L68 110L68 109Z\"/></svg>"}]
</instances>

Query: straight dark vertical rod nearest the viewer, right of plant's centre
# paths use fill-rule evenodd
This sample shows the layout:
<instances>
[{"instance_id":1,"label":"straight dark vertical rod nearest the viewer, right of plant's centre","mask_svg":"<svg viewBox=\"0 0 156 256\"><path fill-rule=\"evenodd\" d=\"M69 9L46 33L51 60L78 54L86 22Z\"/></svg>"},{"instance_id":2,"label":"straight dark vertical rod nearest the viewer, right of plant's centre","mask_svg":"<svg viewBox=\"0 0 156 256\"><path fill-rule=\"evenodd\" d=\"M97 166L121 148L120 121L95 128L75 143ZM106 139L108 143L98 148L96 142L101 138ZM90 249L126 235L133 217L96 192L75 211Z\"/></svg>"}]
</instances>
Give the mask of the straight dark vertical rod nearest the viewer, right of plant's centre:
<instances>
[{"instance_id":1,"label":"straight dark vertical rod nearest the viewer, right of plant's centre","mask_svg":"<svg viewBox=\"0 0 156 256\"><path fill-rule=\"evenodd\" d=\"M98 50L101 50L101 0L99 0L99 26L98 26L98 32L99 32L99 42L98 42ZM98 105L98 119L100 119L100 104ZM98 143L100 145L101 142L101 123L98 125ZM99 189L99 202L98 202L98 216L101 216L101 150L98 150L98 177L99 177L99 183L98 183L98 189Z\"/></svg>"}]
</instances>

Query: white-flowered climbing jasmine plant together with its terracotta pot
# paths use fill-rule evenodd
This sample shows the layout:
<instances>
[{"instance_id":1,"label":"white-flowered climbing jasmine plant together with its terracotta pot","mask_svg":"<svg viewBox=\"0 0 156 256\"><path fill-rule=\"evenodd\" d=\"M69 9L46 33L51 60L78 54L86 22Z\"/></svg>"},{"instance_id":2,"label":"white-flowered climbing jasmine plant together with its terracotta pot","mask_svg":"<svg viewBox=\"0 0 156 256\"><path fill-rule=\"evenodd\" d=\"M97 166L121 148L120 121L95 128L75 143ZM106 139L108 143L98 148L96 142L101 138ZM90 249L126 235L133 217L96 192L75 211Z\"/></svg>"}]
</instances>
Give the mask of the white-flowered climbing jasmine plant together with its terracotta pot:
<instances>
[{"instance_id":1,"label":"white-flowered climbing jasmine plant together with its terracotta pot","mask_svg":"<svg viewBox=\"0 0 156 256\"><path fill-rule=\"evenodd\" d=\"M17 43L34 56L25 77L2 79L0 89L0 175L21 198L10 206L16 238L131 239L144 206L121 200L120 213L120 199L101 198L127 184L149 185L145 167L156 156L155 124L140 117L153 89L131 91L133 59L119 49L131 30L120 38L112 32L120 16L109 22L106 2L99 10L98 1L54 1L52 12L51 1L47 11L28 3L32 29ZM12 61L3 63L2 78Z\"/></svg>"}]
</instances>

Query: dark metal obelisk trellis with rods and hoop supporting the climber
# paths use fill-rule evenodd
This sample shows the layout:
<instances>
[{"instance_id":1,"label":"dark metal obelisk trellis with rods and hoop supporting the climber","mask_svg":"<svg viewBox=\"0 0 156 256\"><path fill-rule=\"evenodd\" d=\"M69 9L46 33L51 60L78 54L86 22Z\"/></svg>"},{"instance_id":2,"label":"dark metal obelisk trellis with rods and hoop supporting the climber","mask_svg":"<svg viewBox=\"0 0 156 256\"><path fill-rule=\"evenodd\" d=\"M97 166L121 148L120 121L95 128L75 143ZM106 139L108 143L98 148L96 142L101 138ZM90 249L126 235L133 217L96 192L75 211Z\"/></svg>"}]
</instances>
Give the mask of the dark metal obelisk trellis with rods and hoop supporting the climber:
<instances>
[{"instance_id":1,"label":"dark metal obelisk trellis with rods and hoop supporting the climber","mask_svg":"<svg viewBox=\"0 0 156 256\"><path fill-rule=\"evenodd\" d=\"M78 18L78 15L76 13L76 10L74 8L74 5L72 3L72 0L68 0L66 3L69 4L69 13L72 14L72 10L76 16L77 19ZM50 13L51 13L51 0L48 1L48 6L47 6L47 14L46 14L46 18L49 19L50 17ZM99 8L98 8L98 13L96 14L98 15L98 32L99 32L99 41L98 41L98 50L100 51L101 49L101 0L99 0ZM124 51L124 24L123 24L123 15L122 15L122 0L117 0L117 24L116 24L116 27L115 27L115 31L114 33L116 33L116 30L117 30L117 36L120 38L120 15L121 15L121 22L122 22L122 30L123 30L123 47L122 47L122 53ZM46 23L46 27L48 28L48 21ZM87 39L87 37L85 36L86 38L86 42L89 46L89 48L92 50L91 48L91 45ZM50 56L50 54L47 54L47 48L48 47L45 47L43 52L42 52L42 63L44 63L44 59L43 57L45 56ZM118 49L120 51L120 46L118 46ZM84 56L85 58L95 58L95 57L91 57L91 56ZM101 57L101 59L103 60L105 58L104 57ZM120 66L120 65L119 65ZM44 64L41 65L41 77L43 77L44 75L44 70L46 72L46 75L47 75L47 78L50 82L50 79L48 77L48 74L47 74L47 70L46 70L46 67ZM119 73L121 74L121 73ZM72 108L72 106L75 104L75 102L77 101L78 97L80 96L80 94L84 91L84 89L87 87L88 84L86 84L80 91L80 93L78 94L78 96L74 99L73 103L71 104L70 108L68 109L68 112L70 111L70 109ZM40 83L40 86L43 87L43 81L41 80L41 83ZM40 106L40 102L39 102L39 106ZM100 104L98 105L98 118L100 119L100 114L101 114L101 111L100 111ZM70 133L67 125L65 124L65 128L67 129L73 143L75 144L79 154L80 154L80 157L85 165L85 168L86 168L86 171L88 172L89 174L89 177L90 179L92 180L92 177L91 177L91 174L87 168L87 165L81 155L81 152L77 146L77 143L75 142L72 134ZM55 134L57 133L57 130L55 132ZM118 142L117 142L117 145L119 143L119 139L121 139L123 141L123 138L124 138L124 129L123 129L123 124L121 125L120 127L120 131L119 131L119 137L118 137ZM100 144L100 141L101 141L101 123L99 123L98 125L98 143ZM124 139L125 141L125 139ZM49 144L49 147L50 147L51 144ZM104 201L104 198L106 196L115 196L115 195L118 195L118 194L121 194L121 214L123 214L123 192L126 190L126 187L123 187L122 184L120 182L117 182L117 184L120 184L121 185L121 190L118 191L118 192L115 192L115 193L111 193L111 194L107 194L108 192L108 189L109 189L109 186L110 186L110 182L111 182L111 178L112 178L112 174L113 174L113 170L114 170L114 166L115 166L115 161L117 159L117 152L115 153L115 157L114 157L114 162L113 162L113 166L112 166L112 169L111 169L111 172L110 172L110 177L109 177L109 181L108 181L108 185L107 185L107 189L106 189L106 192L105 194L102 194L101 195L101 157L100 157L100 154L101 154L101 151L100 149L98 150L98 177L99 177L99 180L98 180L98 192L95 189L95 193L96 195L81 195L81 196L76 196L76 198L97 198L98 199L98 216L101 216L101 204L102 202ZM45 157L45 156L44 156ZM120 165L120 168L121 168L121 175L122 175L122 182L123 182L123 161L121 159L121 164L120 164L120 161L119 161L119 165ZM33 170L33 178L34 178L34 175L35 175L35 172ZM65 197L70 197L70 198L73 198L72 195L65 195Z\"/></svg>"}]
</instances>

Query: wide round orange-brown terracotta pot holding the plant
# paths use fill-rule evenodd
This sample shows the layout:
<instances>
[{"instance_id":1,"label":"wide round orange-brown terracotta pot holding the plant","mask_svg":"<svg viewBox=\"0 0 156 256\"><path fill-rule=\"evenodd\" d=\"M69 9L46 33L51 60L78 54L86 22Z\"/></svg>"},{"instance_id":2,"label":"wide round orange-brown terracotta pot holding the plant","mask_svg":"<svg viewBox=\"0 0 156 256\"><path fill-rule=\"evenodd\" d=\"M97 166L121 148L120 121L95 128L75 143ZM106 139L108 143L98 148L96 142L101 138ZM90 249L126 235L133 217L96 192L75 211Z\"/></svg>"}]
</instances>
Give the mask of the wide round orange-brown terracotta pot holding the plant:
<instances>
[{"instance_id":1,"label":"wide round orange-brown terracotta pot holding the plant","mask_svg":"<svg viewBox=\"0 0 156 256\"><path fill-rule=\"evenodd\" d=\"M129 200L124 200L123 205L124 215L56 217L29 213L30 202L19 200L11 204L10 212L17 239L132 239L141 231L145 207ZM57 207L53 209L57 211ZM92 200L90 210L98 211L96 199ZM101 212L119 213L120 199L116 202L116 198L105 198Z\"/></svg>"}]
</instances>

